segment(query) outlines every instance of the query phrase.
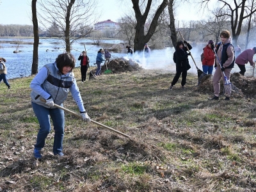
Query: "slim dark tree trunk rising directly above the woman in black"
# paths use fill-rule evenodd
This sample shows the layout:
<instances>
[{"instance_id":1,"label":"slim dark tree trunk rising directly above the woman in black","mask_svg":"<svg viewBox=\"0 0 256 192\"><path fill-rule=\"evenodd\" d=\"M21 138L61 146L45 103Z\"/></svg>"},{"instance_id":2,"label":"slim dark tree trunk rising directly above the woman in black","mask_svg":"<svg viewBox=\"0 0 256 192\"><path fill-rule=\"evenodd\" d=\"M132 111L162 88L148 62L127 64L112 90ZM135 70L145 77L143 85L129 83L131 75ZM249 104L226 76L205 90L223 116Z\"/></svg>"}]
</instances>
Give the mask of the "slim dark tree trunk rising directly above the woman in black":
<instances>
[{"instance_id":1,"label":"slim dark tree trunk rising directly above the woman in black","mask_svg":"<svg viewBox=\"0 0 256 192\"><path fill-rule=\"evenodd\" d=\"M173 0L169 0L168 12L169 12L169 17L170 17L170 24L168 27L170 28L170 31L171 31L172 45L173 45L173 47L175 47L177 44L177 33L176 33L176 29L175 29L175 19L174 19L174 14L173 14Z\"/></svg>"}]
</instances>

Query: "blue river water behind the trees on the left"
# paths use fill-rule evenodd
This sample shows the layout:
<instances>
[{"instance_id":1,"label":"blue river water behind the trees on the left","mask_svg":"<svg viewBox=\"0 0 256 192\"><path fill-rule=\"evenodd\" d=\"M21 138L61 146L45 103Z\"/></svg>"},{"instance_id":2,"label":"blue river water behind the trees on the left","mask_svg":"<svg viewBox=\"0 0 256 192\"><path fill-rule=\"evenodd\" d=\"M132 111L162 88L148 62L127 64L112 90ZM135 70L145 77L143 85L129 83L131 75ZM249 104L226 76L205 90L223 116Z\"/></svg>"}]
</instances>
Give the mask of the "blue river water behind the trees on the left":
<instances>
[{"instance_id":1,"label":"blue river water behind the trees on the left","mask_svg":"<svg viewBox=\"0 0 256 192\"><path fill-rule=\"evenodd\" d=\"M0 38L1 41L19 41L19 42L32 42L33 38ZM120 40L105 40L105 43L118 44ZM77 59L82 51L84 51L84 45L86 47L90 63L93 65L96 60L97 51L100 48L97 45L91 45L92 40L81 40L75 42L72 45L71 53ZM0 44L0 57L6 59L6 68L8 72L8 79L27 77L31 75L31 65L33 61L33 44L20 44L18 47L18 53L16 51L17 44ZM47 51L47 49L49 51ZM58 39L40 39L40 45L38 46L38 70L47 63L53 63L57 56L65 52L65 47ZM111 53L113 56L122 57L125 56L123 53ZM80 61L76 61L76 67L80 66Z\"/></svg>"}]
</instances>

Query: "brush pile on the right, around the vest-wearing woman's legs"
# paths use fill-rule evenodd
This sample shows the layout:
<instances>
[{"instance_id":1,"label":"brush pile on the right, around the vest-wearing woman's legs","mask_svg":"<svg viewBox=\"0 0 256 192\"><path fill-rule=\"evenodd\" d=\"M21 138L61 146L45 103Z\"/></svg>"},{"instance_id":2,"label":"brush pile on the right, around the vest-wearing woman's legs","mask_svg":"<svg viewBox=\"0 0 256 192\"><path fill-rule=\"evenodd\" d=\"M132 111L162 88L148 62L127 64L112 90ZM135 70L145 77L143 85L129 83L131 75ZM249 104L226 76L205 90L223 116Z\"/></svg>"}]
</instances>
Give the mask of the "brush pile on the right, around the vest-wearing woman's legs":
<instances>
[{"instance_id":1,"label":"brush pile on the right, around the vest-wearing woman's legs","mask_svg":"<svg viewBox=\"0 0 256 192\"><path fill-rule=\"evenodd\" d=\"M232 95L232 97L255 97L256 96L256 78L255 77L246 77L241 76L239 73L231 74L230 82L236 86L239 91L242 93L240 95ZM221 92L223 94L223 83L222 80L220 81L221 84ZM207 92L213 93L213 86L212 86L212 77L208 77L202 79L201 83L198 86L198 92Z\"/></svg>"}]
</instances>

